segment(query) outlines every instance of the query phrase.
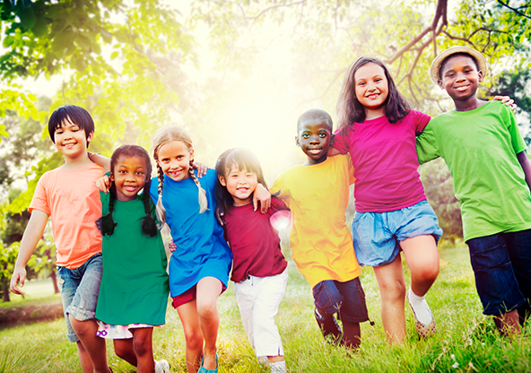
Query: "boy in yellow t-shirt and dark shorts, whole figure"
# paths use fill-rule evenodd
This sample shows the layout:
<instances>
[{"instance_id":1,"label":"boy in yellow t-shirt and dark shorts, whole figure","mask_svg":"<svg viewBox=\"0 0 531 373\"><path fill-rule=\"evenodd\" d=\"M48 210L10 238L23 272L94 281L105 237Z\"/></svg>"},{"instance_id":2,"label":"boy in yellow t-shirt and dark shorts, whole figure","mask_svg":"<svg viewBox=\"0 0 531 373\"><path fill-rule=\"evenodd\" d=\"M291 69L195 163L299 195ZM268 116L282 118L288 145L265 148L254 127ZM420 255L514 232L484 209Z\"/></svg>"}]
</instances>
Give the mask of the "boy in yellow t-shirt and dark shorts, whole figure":
<instances>
[{"instance_id":1,"label":"boy in yellow t-shirt and dark shorts, whole figure","mask_svg":"<svg viewBox=\"0 0 531 373\"><path fill-rule=\"evenodd\" d=\"M348 154L327 157L334 141L332 130L326 111L303 113L295 139L308 161L284 171L270 191L292 211L292 258L312 287L321 332L355 349L361 343L360 323L369 317L360 265L344 218L354 172ZM335 313L343 323L343 335Z\"/></svg>"}]
</instances>

